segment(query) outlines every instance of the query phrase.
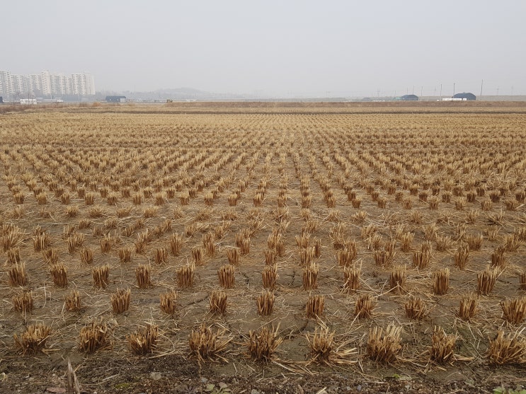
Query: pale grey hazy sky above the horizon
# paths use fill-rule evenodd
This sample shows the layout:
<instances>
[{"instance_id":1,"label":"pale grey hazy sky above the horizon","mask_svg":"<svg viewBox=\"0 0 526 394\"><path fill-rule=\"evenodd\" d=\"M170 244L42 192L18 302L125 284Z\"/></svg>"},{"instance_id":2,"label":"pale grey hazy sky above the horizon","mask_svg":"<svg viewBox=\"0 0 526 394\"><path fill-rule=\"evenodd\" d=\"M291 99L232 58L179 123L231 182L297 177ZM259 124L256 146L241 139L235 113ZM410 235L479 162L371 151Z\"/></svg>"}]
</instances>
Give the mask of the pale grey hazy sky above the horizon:
<instances>
[{"instance_id":1,"label":"pale grey hazy sky above the horizon","mask_svg":"<svg viewBox=\"0 0 526 394\"><path fill-rule=\"evenodd\" d=\"M0 69L96 89L526 94L525 0L4 1Z\"/></svg>"}]
</instances>

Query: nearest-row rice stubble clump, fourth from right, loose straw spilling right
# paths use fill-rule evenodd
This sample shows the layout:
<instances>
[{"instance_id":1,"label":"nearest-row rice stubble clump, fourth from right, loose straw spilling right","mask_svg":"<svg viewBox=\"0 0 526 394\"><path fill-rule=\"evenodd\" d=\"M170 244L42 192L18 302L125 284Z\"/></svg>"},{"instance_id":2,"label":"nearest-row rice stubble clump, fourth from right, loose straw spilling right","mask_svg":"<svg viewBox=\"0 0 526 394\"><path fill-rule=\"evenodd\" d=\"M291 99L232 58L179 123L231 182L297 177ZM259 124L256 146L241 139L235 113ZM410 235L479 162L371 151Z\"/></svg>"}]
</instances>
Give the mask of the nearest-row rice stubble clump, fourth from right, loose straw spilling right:
<instances>
[{"instance_id":1,"label":"nearest-row rice stubble clump, fourth from right, loose straw spilling right","mask_svg":"<svg viewBox=\"0 0 526 394\"><path fill-rule=\"evenodd\" d=\"M356 361L350 360L350 357L357 354L356 348L344 349L349 341L343 342L336 346L334 343L335 332L329 332L328 328L314 329L314 335L305 335L311 348L311 359L309 362L319 364L354 364Z\"/></svg>"}]
</instances>

